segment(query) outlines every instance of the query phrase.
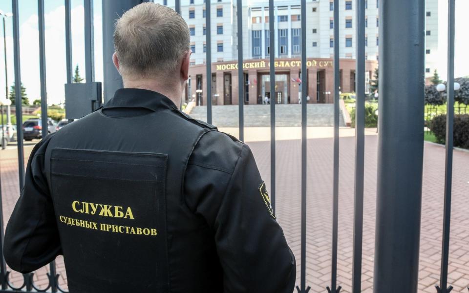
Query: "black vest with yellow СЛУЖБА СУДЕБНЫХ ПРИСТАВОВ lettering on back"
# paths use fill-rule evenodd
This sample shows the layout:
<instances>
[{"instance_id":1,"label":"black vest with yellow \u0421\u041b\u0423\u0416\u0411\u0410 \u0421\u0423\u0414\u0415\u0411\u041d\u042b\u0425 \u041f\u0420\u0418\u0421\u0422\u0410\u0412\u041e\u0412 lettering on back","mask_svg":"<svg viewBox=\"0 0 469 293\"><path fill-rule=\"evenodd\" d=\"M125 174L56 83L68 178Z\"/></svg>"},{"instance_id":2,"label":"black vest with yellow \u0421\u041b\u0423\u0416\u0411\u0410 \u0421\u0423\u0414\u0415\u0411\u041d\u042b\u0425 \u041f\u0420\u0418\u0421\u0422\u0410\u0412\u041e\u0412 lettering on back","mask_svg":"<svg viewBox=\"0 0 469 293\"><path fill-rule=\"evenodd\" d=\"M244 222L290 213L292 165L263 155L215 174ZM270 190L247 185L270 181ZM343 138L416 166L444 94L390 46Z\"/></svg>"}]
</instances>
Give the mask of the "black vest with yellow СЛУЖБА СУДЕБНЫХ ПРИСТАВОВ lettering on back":
<instances>
[{"instance_id":1,"label":"black vest with yellow \u0421\u041b\u0423\u0416\u0411\u0410 \u0421\u0423\u0414\u0415\u0411\u041d\u042b\u0425 \u041f\u0420\u0418\u0421\u0422\u0410\u0412\u041e\u0412 lettering on back","mask_svg":"<svg viewBox=\"0 0 469 293\"><path fill-rule=\"evenodd\" d=\"M189 237L174 219L198 225L184 204L185 168L215 129L175 107L124 118L98 110L50 140L45 172L70 292L173 292L169 247Z\"/></svg>"}]
</instances>

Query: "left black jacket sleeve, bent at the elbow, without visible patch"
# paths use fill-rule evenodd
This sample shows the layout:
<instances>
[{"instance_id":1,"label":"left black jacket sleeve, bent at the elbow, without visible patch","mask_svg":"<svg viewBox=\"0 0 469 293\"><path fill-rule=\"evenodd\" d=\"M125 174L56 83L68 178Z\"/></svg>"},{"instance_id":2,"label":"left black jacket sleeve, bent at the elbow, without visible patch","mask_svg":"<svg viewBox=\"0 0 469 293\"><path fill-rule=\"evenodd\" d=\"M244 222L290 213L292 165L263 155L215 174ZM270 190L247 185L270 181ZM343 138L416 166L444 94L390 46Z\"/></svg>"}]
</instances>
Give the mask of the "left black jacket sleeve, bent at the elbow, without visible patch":
<instances>
[{"instance_id":1,"label":"left black jacket sleeve, bent at the elbow, without visible patch","mask_svg":"<svg viewBox=\"0 0 469 293\"><path fill-rule=\"evenodd\" d=\"M57 223L44 176L44 151L50 137L38 143L28 161L24 187L5 231L3 255L11 269L37 270L61 254Z\"/></svg>"}]
</instances>

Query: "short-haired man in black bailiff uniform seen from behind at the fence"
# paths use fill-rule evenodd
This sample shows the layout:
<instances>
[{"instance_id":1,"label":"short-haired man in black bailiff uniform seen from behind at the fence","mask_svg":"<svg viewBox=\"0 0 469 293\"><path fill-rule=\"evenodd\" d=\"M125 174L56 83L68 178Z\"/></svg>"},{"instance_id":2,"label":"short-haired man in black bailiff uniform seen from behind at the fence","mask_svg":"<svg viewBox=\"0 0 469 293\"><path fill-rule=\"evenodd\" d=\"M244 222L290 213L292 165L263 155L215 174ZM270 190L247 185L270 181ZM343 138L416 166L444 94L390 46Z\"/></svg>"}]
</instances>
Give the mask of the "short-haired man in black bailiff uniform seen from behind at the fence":
<instances>
[{"instance_id":1,"label":"short-haired man in black bailiff uniform seen from behind at the fence","mask_svg":"<svg viewBox=\"0 0 469 293\"><path fill-rule=\"evenodd\" d=\"M4 242L32 272L64 255L71 293L291 293L296 267L248 146L178 110L189 30L143 3L116 23L125 88L44 138Z\"/></svg>"}]
</instances>

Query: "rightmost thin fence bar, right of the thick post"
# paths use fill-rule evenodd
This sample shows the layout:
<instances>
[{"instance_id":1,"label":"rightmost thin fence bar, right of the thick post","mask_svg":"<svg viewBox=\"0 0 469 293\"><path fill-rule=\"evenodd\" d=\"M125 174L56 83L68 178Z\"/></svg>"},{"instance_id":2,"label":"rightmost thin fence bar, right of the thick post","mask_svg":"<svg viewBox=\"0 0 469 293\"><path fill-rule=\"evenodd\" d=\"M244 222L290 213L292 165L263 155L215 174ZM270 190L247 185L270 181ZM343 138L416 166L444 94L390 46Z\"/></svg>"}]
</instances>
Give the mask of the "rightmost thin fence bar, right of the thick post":
<instances>
[{"instance_id":1,"label":"rightmost thin fence bar, right of the thick post","mask_svg":"<svg viewBox=\"0 0 469 293\"><path fill-rule=\"evenodd\" d=\"M443 240L441 248L440 286L438 293L448 293L449 224L451 220L451 179L453 170L453 123L454 123L454 0L448 0L448 83L446 115L446 164L445 203L443 209Z\"/></svg>"}]
</instances>

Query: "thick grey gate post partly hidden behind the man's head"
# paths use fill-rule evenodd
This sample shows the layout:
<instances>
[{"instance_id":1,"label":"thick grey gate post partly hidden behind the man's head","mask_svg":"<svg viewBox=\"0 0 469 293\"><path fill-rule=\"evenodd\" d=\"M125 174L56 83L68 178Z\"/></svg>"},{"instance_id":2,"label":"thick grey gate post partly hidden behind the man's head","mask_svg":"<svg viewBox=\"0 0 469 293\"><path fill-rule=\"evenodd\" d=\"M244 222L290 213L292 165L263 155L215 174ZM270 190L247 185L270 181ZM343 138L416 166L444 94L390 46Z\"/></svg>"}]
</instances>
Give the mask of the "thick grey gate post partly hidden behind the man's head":
<instances>
[{"instance_id":1,"label":"thick grey gate post partly hidden behind the man's head","mask_svg":"<svg viewBox=\"0 0 469 293\"><path fill-rule=\"evenodd\" d=\"M105 103L112 99L117 89L123 86L121 75L112 63L114 22L124 12L138 4L140 4L140 0L103 1L103 92Z\"/></svg>"}]
</instances>

